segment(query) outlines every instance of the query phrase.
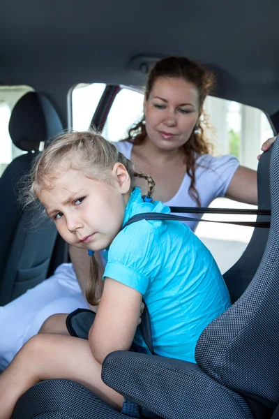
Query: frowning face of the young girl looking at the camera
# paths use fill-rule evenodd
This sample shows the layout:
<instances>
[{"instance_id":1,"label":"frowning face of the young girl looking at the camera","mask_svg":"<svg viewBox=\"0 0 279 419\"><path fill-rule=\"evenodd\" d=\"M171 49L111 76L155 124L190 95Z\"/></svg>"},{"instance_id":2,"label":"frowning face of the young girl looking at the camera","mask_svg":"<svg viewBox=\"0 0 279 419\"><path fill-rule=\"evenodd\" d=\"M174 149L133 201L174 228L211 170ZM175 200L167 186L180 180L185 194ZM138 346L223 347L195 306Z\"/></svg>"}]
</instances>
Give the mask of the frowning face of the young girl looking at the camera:
<instances>
[{"instance_id":1,"label":"frowning face of the young girl looking at the camera","mask_svg":"<svg viewBox=\"0 0 279 419\"><path fill-rule=\"evenodd\" d=\"M62 170L38 198L66 242L99 251L121 230L130 196L130 177L121 163L114 165L111 183L86 177L81 170Z\"/></svg>"}]
</instances>

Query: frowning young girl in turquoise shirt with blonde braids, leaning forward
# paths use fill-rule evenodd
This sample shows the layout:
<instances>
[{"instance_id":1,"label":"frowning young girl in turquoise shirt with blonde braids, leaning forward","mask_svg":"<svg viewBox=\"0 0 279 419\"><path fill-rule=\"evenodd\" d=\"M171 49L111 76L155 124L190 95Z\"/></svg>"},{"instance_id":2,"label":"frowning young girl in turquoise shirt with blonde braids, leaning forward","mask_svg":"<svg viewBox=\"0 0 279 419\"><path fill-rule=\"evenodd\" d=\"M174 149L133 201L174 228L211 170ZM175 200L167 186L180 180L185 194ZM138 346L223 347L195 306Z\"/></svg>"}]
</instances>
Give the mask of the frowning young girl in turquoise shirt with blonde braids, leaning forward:
<instances>
[{"instance_id":1,"label":"frowning young girl in turquoise shirt with blonde braids, leaning forward","mask_svg":"<svg viewBox=\"0 0 279 419\"><path fill-rule=\"evenodd\" d=\"M135 186L146 179L147 192ZM195 362L202 330L229 307L229 294L206 247L184 223L137 221L135 214L168 214L152 201L155 184L98 133L68 133L38 156L31 173L29 203L40 200L64 240L89 254L107 249L102 299L89 340L36 335L0 375L0 418L10 418L31 385L50 378L82 383L115 409L140 418L156 417L101 380L106 355L133 343L147 351L137 324L142 298L151 318L158 355ZM96 262L87 298L96 304Z\"/></svg>"}]
</instances>

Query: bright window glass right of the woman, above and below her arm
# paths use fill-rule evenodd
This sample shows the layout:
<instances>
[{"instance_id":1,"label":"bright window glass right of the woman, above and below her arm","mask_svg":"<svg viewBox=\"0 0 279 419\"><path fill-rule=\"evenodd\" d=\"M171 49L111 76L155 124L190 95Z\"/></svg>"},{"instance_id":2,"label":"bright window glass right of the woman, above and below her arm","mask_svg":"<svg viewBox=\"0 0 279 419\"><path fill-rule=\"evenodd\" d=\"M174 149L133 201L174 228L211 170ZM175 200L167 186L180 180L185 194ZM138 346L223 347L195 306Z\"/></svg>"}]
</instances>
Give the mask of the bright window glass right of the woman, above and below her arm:
<instances>
[{"instance_id":1,"label":"bright window glass right of the woman, above and below her arm","mask_svg":"<svg viewBox=\"0 0 279 419\"><path fill-rule=\"evenodd\" d=\"M262 110L220 98L206 99L205 111L215 131L215 154L233 154L242 166L257 170L257 155L262 143L273 137L269 119ZM227 198L214 200L210 207L255 209L255 205L238 203ZM203 219L216 221L256 221L255 215L205 214ZM218 223L199 223L196 234L213 254L220 271L226 272L246 249L252 227Z\"/></svg>"}]
</instances>

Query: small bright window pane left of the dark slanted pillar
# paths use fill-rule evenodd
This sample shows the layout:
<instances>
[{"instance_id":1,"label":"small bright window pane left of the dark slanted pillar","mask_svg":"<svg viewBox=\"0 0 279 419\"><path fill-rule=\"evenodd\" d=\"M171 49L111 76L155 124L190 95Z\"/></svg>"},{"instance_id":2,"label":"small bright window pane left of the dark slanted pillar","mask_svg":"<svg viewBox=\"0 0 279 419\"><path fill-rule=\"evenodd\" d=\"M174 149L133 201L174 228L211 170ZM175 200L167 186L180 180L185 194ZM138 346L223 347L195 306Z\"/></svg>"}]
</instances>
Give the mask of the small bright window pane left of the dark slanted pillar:
<instances>
[{"instance_id":1,"label":"small bright window pane left of the dark slanted pillar","mask_svg":"<svg viewBox=\"0 0 279 419\"><path fill-rule=\"evenodd\" d=\"M86 131L89 128L104 90L104 83L81 83L75 86L72 91L72 116L75 131Z\"/></svg>"}]
</instances>

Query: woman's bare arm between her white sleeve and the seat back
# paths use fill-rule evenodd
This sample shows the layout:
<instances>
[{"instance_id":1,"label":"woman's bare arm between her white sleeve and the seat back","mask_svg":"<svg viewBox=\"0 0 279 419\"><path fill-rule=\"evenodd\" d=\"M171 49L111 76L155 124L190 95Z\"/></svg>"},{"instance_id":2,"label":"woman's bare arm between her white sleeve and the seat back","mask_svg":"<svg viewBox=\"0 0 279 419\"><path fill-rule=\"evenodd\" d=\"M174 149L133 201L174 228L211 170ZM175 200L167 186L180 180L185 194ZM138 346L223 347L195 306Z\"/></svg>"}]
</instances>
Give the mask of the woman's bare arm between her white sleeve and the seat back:
<instances>
[{"instance_id":1,"label":"woman's bare arm between her white sleeve and the seat back","mask_svg":"<svg viewBox=\"0 0 279 419\"><path fill-rule=\"evenodd\" d=\"M239 166L225 196L241 203L257 205L257 172Z\"/></svg>"}]
</instances>

